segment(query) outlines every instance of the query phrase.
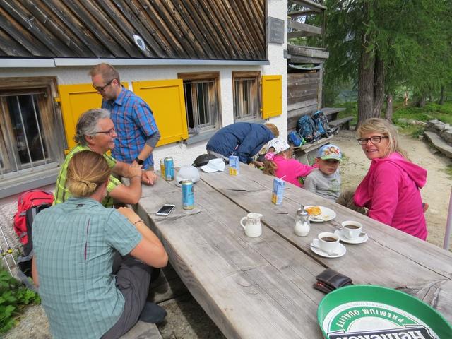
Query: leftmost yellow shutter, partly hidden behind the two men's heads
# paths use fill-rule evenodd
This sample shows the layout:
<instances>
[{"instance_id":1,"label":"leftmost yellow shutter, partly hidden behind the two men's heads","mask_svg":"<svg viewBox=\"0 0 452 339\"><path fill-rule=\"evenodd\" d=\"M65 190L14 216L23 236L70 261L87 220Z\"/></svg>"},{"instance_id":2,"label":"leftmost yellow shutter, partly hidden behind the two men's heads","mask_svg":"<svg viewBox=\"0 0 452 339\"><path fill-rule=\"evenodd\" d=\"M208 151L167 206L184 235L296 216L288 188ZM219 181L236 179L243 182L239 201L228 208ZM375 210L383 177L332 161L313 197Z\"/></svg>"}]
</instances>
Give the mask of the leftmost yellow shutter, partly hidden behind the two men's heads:
<instances>
[{"instance_id":1,"label":"leftmost yellow shutter, partly hidden behind the two men's heads","mask_svg":"<svg viewBox=\"0 0 452 339\"><path fill-rule=\"evenodd\" d=\"M121 82L121 84L125 88L129 88L128 83ZM102 96L97 93L90 83L59 85L58 90L68 150L71 150L76 145L73 141L73 136L76 135L78 118L88 109L100 108L102 106Z\"/></svg>"}]
</instances>

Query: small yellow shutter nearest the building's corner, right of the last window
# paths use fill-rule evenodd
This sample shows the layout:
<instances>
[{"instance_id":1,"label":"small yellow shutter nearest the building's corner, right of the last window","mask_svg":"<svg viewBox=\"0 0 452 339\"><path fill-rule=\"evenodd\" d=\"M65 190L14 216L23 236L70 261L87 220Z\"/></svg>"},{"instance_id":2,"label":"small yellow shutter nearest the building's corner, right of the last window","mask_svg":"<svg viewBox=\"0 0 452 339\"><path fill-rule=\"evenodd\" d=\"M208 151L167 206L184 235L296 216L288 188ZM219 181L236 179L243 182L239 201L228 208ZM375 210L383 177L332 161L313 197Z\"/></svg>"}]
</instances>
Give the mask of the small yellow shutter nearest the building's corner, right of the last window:
<instances>
[{"instance_id":1,"label":"small yellow shutter nearest the building's corner, right of the last window","mask_svg":"<svg viewBox=\"0 0 452 339\"><path fill-rule=\"evenodd\" d=\"M262 76L262 118L283 114L283 76Z\"/></svg>"}]
</instances>

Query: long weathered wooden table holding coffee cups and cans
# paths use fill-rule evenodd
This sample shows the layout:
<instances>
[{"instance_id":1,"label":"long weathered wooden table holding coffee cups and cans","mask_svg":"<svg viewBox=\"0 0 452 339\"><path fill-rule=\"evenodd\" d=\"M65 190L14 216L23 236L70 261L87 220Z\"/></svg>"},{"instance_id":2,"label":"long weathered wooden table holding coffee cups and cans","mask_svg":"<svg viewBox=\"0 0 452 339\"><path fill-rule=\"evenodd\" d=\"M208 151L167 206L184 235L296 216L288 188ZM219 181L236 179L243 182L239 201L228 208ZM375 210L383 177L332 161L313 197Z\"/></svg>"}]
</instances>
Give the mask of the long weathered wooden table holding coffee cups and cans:
<instances>
[{"instance_id":1,"label":"long weathered wooden table holding coffee cups and cans","mask_svg":"<svg viewBox=\"0 0 452 339\"><path fill-rule=\"evenodd\" d=\"M194 185L193 210L182 209L181 189L160 179L143 187L138 213L159 235L169 261L191 294L227 338L323 338L314 290L325 268L355 284L403 289L432 304L452 321L452 254L364 215L288 184L282 205L271 203L273 177L246 165L227 172L201 173ZM155 212L177 207L167 217ZM330 222L311 222L307 237L294 233L300 203L331 208ZM263 233L246 237L239 220L263 214ZM340 258L314 254L309 244L320 232L334 232L344 220L364 225L369 240L344 244Z\"/></svg>"}]
</instances>

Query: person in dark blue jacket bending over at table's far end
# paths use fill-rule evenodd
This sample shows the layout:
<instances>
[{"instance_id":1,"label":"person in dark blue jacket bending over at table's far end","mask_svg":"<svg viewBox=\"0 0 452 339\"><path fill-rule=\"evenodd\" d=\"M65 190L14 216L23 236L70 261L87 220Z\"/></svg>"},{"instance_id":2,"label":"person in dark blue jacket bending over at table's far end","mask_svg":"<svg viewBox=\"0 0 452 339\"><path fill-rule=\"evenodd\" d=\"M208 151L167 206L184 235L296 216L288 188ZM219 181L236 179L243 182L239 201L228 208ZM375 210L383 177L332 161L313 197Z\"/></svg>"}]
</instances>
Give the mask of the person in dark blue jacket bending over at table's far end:
<instances>
[{"instance_id":1,"label":"person in dark blue jacket bending over at table's far end","mask_svg":"<svg viewBox=\"0 0 452 339\"><path fill-rule=\"evenodd\" d=\"M236 122L217 131L206 145L207 153L223 159L230 155L237 155L240 162L249 164L254 161L262 146L273 138L278 138L280 132L273 124L253 124L250 122Z\"/></svg>"}]
</instances>

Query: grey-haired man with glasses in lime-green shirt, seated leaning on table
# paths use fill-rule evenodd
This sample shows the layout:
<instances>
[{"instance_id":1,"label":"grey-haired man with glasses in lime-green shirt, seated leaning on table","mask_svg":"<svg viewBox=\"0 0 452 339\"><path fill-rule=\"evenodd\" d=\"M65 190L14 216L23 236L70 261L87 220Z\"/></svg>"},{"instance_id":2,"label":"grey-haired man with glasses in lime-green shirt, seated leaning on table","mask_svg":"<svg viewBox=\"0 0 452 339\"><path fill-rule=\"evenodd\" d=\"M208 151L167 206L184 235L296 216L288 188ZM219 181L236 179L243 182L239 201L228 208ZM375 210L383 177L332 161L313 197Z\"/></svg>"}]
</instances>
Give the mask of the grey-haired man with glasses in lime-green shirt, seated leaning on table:
<instances>
[{"instance_id":1,"label":"grey-haired man with glasses in lime-green shirt, seated leaning on table","mask_svg":"<svg viewBox=\"0 0 452 339\"><path fill-rule=\"evenodd\" d=\"M112 207L113 199L121 203L138 203L141 198L141 182L153 184L157 177L153 171L143 171L141 165L136 163L129 165L107 154L109 150L114 149L114 139L117 138L110 112L107 109L90 109L78 119L76 129L74 140L77 145L68 153L61 165L55 187L54 204L62 203L71 196L66 183L67 167L73 155L82 150L92 150L103 155L114 174L130 180L129 186L126 186L116 177L110 176L107 196L102 201L105 207Z\"/></svg>"}]
</instances>

